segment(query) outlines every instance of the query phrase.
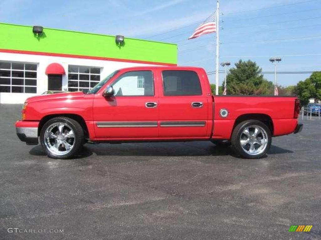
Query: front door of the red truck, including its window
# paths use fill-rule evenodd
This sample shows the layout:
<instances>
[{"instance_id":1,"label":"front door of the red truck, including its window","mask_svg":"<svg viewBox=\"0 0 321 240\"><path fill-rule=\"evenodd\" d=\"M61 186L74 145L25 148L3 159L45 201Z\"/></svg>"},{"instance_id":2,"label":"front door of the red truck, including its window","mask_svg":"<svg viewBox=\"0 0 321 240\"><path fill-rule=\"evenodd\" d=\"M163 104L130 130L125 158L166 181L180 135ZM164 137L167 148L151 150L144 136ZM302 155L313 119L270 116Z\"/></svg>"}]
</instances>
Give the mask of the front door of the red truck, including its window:
<instances>
[{"instance_id":1,"label":"front door of the red truck, including its window","mask_svg":"<svg viewBox=\"0 0 321 240\"><path fill-rule=\"evenodd\" d=\"M157 138L159 102L153 72L126 72L109 85L114 88L114 96L97 94L94 99L96 138Z\"/></svg>"}]
</instances>

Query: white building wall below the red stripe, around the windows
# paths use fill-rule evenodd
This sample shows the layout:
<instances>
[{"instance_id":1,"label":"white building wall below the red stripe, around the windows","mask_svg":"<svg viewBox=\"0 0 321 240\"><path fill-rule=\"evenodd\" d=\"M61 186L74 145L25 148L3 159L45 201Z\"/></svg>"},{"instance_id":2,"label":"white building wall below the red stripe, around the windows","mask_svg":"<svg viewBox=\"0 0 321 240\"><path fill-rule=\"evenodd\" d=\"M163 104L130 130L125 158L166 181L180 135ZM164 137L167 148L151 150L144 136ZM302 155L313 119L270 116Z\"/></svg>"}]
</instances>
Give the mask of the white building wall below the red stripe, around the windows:
<instances>
[{"instance_id":1,"label":"white building wall below the red stripe, around the windows","mask_svg":"<svg viewBox=\"0 0 321 240\"><path fill-rule=\"evenodd\" d=\"M12 62L38 64L37 94L0 92L0 103L15 103L15 104L22 104L27 98L31 96L40 95L41 93L48 90L48 76L45 74L45 71L48 65L51 63L59 63L65 68L66 74L63 75L62 77L62 90L68 89L68 65L100 67L101 68L100 80L104 79L110 73L120 68L151 65L151 64L131 63L131 62L117 62L117 61L106 61L106 60L92 60L92 59L42 56L42 55L18 54L18 53L4 53L4 52L0 52L0 61L12 61ZM137 88L136 85L135 87Z\"/></svg>"}]
</instances>

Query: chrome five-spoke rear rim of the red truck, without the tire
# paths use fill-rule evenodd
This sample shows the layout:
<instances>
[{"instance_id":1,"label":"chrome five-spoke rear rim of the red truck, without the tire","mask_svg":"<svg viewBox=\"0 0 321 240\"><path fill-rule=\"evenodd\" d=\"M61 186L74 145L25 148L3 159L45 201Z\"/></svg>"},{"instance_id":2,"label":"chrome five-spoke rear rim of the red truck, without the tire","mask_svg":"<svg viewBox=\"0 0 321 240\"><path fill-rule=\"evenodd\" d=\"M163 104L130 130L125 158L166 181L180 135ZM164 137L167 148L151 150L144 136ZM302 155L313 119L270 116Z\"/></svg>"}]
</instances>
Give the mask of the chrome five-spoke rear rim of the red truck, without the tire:
<instances>
[{"instance_id":1,"label":"chrome five-spoke rear rim of the red truck, without the tire","mask_svg":"<svg viewBox=\"0 0 321 240\"><path fill-rule=\"evenodd\" d=\"M244 152L249 155L259 155L265 151L268 135L261 126L250 125L244 128L239 141Z\"/></svg>"}]
</instances>

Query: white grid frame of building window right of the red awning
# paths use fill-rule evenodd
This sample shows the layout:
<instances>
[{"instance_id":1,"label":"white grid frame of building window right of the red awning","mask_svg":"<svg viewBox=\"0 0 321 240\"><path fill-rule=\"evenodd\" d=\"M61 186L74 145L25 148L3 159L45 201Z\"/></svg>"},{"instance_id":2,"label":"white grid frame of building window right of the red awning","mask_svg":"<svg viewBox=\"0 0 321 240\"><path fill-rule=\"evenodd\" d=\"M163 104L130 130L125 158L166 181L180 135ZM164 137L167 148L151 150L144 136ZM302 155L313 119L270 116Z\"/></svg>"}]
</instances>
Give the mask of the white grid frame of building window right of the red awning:
<instances>
[{"instance_id":1,"label":"white grid frame of building window right of the red awning","mask_svg":"<svg viewBox=\"0 0 321 240\"><path fill-rule=\"evenodd\" d=\"M78 72L69 72L69 67L77 68ZM81 73L80 72L80 68L89 68L89 73ZM100 69L100 73L99 74L98 73L91 73L91 68L99 68ZM68 65L68 75L67 75L67 90L69 91L69 89L76 89L77 91L82 91L83 89L88 89L90 91L95 85L100 83L100 81L101 81L101 71L102 71L102 67L69 64ZM77 75L78 79L69 79L69 74ZM88 75L89 76L89 80L81 80L80 79L80 75ZM99 81L91 80L91 76L99 76ZM78 87L69 86L69 82L76 82L78 84ZM81 87L80 86L80 82L88 82L89 87ZM95 85L91 87L91 83L95 83ZM71 92L77 92L77 91L71 91Z\"/></svg>"}]
</instances>

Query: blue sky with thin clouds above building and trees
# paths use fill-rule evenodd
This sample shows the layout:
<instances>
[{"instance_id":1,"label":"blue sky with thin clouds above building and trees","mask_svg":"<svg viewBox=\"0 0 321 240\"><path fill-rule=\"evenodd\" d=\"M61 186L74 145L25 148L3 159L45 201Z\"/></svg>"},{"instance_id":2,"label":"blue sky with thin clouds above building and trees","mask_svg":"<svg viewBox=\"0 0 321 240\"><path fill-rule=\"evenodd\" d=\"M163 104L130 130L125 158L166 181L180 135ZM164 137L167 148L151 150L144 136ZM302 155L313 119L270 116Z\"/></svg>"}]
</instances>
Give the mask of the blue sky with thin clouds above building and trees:
<instances>
[{"instance_id":1,"label":"blue sky with thin clouds above building and trees","mask_svg":"<svg viewBox=\"0 0 321 240\"><path fill-rule=\"evenodd\" d=\"M251 59L263 71L274 71L268 59L281 56L278 71L321 70L321 0L221 0L220 5L220 61L233 65ZM0 22L177 43L179 65L210 72L215 34L187 37L215 8L214 0L2 0ZM279 75L278 84L296 84L308 76ZM265 77L273 81L272 74Z\"/></svg>"}]
</instances>

